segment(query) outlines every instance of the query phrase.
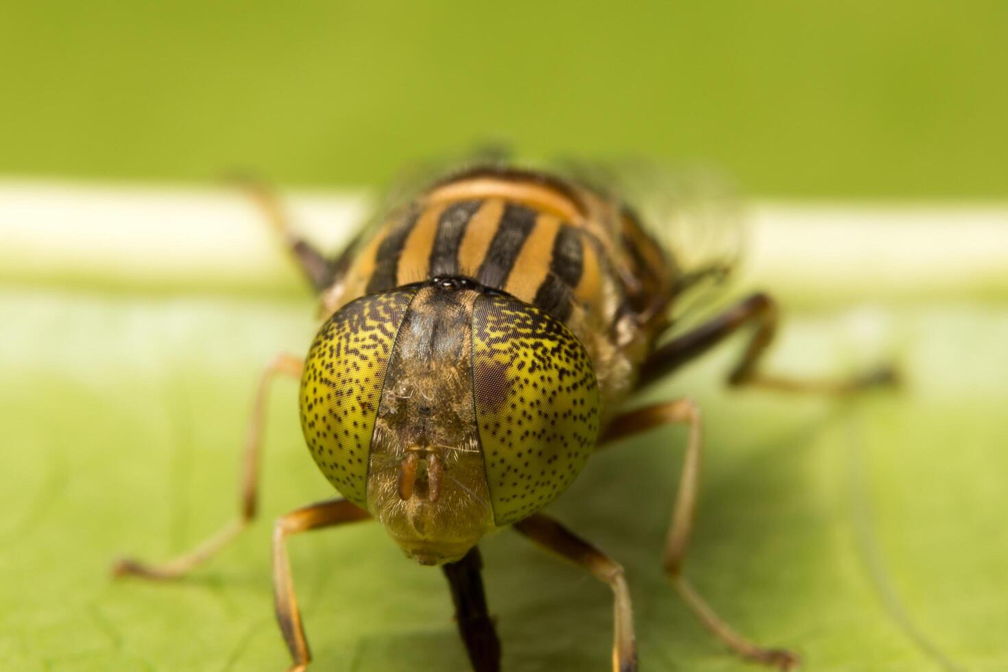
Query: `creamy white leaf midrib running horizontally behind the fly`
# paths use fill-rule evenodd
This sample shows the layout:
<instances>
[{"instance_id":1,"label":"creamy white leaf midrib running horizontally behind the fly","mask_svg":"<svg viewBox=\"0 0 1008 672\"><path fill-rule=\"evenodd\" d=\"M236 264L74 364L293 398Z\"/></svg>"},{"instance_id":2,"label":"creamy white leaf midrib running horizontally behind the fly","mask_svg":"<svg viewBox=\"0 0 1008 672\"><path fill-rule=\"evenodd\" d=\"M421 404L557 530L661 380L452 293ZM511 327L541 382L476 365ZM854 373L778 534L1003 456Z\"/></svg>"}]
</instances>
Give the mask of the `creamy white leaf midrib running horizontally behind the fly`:
<instances>
[{"instance_id":1,"label":"creamy white leaf midrib running horizontally behind the fly","mask_svg":"<svg viewBox=\"0 0 1008 672\"><path fill-rule=\"evenodd\" d=\"M361 191L281 191L293 220L338 249ZM1008 291L1008 205L757 200L750 282L799 297ZM262 288L300 278L237 189L0 180L0 281Z\"/></svg>"}]
</instances>

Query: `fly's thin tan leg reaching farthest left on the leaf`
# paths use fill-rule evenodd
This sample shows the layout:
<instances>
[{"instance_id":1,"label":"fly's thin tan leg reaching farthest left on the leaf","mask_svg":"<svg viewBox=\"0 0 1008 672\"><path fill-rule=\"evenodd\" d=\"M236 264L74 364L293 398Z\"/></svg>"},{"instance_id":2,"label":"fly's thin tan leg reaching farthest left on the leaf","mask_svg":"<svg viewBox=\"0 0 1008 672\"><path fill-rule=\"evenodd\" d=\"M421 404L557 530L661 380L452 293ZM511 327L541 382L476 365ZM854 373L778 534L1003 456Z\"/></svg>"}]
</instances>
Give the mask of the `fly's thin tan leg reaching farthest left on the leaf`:
<instances>
[{"instance_id":1,"label":"fly's thin tan leg reaching farthest left on the leaf","mask_svg":"<svg viewBox=\"0 0 1008 672\"><path fill-rule=\"evenodd\" d=\"M292 355L279 355L263 372L256 390L252 418L249 421L245 450L241 461L241 502L238 519L227 524L202 544L163 564L148 565L130 558L118 560L112 568L115 576L135 575L143 578L177 578L207 560L226 546L255 518L259 485L259 453L262 448L262 423L266 412L266 394L274 376L283 374L300 378L301 360Z\"/></svg>"}]
</instances>

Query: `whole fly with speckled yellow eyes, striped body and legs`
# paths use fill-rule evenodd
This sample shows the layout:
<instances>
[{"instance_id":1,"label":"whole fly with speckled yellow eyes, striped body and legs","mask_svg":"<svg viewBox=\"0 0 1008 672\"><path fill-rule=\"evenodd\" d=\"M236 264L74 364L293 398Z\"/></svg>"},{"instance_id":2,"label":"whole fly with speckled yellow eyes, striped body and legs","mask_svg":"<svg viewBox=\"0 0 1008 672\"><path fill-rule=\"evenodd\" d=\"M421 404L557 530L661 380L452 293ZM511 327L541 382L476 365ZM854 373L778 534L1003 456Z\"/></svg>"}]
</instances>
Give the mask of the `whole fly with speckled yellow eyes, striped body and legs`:
<instances>
[{"instance_id":1,"label":"whole fly with speckled yellow eyes, striped body and legs","mask_svg":"<svg viewBox=\"0 0 1008 672\"><path fill-rule=\"evenodd\" d=\"M287 539L373 519L407 557L442 567L477 672L500 669L478 544L503 527L612 588L612 666L629 672L637 669L637 651L622 567L543 509L597 450L681 423L688 439L662 567L730 649L777 669L797 666L790 651L736 633L683 573L700 489L699 407L689 399L625 407L636 392L743 328L751 335L728 376L733 386L846 393L890 383L893 375L879 369L814 381L764 371L778 311L763 293L682 328L688 298L734 268L738 236L705 223L710 209L695 213L692 226L679 221L703 199L672 198L664 221L628 186L601 187L612 180L577 174L501 164L454 172L388 208L336 259L302 240L276 201L257 191L319 292L322 326L306 357L281 355L262 376L238 518L174 560L122 560L116 574L180 576L248 525L256 514L266 390L276 376L291 376L300 380L308 450L341 497L275 524L274 597L290 670L305 669L310 655ZM680 234L692 239L673 240Z\"/></svg>"}]
</instances>

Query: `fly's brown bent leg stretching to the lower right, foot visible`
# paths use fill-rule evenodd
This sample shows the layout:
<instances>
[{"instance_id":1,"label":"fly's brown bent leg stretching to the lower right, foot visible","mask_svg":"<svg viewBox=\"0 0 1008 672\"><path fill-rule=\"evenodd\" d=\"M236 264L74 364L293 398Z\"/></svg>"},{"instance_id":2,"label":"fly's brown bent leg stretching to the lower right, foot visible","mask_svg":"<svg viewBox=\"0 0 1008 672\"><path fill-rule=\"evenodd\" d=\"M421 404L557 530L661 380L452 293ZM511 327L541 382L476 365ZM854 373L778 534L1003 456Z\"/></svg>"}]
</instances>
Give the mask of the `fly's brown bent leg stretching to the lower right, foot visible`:
<instances>
[{"instance_id":1,"label":"fly's brown bent leg stretching to the lower right, foot visible","mask_svg":"<svg viewBox=\"0 0 1008 672\"><path fill-rule=\"evenodd\" d=\"M624 413L613 420L600 445L669 423L688 424L689 438L686 442L682 476L679 477L679 488L672 509L672 521L662 553L661 562L665 573L701 623L740 656L781 670L797 667L798 657L795 654L784 649L764 649L736 633L718 617L682 575L682 563L689 546L689 536L692 533L697 512L703 457L701 412L697 404L689 399L678 399Z\"/></svg>"}]
</instances>

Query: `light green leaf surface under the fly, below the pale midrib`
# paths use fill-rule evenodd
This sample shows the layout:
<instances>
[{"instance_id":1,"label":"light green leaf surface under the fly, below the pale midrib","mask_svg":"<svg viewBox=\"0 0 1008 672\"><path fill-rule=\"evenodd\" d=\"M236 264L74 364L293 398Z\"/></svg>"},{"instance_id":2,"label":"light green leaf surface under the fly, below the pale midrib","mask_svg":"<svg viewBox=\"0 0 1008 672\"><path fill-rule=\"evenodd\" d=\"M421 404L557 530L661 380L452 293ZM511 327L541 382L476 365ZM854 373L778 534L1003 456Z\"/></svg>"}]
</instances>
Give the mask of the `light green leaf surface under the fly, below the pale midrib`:
<instances>
[{"instance_id":1,"label":"light green leaf surface under the fly, below the pale midrib","mask_svg":"<svg viewBox=\"0 0 1008 672\"><path fill-rule=\"evenodd\" d=\"M306 350L311 307L0 293L0 669L283 668L270 520L332 492L303 445L294 382L270 404L263 519L175 584L107 571L117 553L166 557L234 514L254 381L276 352ZM694 395L709 428L687 572L743 632L795 647L808 670L942 669L915 637L955 669L1004 670L1008 309L922 298L873 319L907 374L902 391L848 404L730 394L717 380L738 344L656 391ZM773 361L842 369L876 350L852 323L791 315ZM659 572L683 438L667 429L593 458L551 510L626 565L645 669L750 670ZM439 572L381 529L290 548L316 669L466 669ZM605 586L510 532L484 555L506 670L607 669Z\"/></svg>"}]
</instances>

